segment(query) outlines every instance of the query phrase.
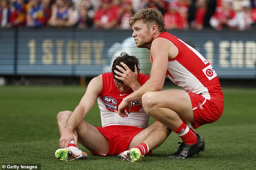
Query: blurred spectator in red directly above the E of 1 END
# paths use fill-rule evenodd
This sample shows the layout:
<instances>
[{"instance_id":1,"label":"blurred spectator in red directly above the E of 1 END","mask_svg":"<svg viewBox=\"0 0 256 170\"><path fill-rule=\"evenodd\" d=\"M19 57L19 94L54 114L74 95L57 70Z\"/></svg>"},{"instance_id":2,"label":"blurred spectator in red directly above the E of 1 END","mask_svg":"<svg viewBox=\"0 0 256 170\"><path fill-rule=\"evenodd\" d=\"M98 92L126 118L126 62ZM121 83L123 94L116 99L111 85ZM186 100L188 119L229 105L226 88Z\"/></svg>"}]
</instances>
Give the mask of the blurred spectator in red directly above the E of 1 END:
<instances>
[{"instance_id":1,"label":"blurred spectator in red directly above the E of 1 END","mask_svg":"<svg viewBox=\"0 0 256 170\"><path fill-rule=\"evenodd\" d=\"M221 30L229 27L229 21L235 17L235 11L231 8L231 0L222 0L222 6L218 6L214 15L210 18L210 25Z\"/></svg>"}]
</instances>

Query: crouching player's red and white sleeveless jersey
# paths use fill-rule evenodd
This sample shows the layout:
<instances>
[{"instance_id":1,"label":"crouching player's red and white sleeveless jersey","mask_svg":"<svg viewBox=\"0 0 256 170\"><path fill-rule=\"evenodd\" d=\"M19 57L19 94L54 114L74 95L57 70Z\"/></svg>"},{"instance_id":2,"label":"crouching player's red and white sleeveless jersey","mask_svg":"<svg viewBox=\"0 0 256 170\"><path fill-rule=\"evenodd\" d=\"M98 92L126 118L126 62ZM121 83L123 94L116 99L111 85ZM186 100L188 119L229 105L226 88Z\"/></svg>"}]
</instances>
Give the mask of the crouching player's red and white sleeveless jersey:
<instances>
[{"instance_id":1,"label":"crouching player's red and white sleeveless jersey","mask_svg":"<svg viewBox=\"0 0 256 170\"><path fill-rule=\"evenodd\" d=\"M222 101L220 82L210 63L193 47L170 33L161 33L157 38L159 37L172 41L178 48L178 55L168 60L168 78L186 92L202 94L209 100Z\"/></svg>"}]
</instances>

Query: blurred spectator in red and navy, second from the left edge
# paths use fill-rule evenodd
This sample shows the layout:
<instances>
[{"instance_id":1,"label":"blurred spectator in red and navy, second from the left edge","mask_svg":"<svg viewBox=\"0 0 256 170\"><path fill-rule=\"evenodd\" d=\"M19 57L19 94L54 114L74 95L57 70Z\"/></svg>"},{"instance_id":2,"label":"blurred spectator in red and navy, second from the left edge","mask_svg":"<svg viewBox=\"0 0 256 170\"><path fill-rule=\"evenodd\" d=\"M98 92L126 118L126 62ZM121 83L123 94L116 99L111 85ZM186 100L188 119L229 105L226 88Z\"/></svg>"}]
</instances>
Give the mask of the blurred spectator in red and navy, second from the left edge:
<instances>
[{"instance_id":1,"label":"blurred spectator in red and navy, second from the left edge","mask_svg":"<svg viewBox=\"0 0 256 170\"><path fill-rule=\"evenodd\" d=\"M10 16L10 23L12 27L24 27L25 26L25 15L26 5L24 0L15 0L13 2L13 12Z\"/></svg>"}]
</instances>

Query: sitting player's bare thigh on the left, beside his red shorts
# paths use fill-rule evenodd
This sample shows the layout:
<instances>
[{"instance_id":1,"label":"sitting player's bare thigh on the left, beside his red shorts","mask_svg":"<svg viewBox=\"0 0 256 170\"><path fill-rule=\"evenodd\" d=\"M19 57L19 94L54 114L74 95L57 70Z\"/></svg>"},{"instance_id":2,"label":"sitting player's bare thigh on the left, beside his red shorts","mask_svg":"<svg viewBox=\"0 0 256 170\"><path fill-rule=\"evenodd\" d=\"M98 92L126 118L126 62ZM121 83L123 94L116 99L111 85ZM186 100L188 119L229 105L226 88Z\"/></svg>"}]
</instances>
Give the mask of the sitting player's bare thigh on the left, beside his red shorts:
<instances>
[{"instance_id":1,"label":"sitting player's bare thigh on the left, beside his red shorts","mask_svg":"<svg viewBox=\"0 0 256 170\"><path fill-rule=\"evenodd\" d=\"M96 127L86 121L82 121L76 128L78 142L94 153L107 154L109 141L103 136Z\"/></svg>"}]
</instances>

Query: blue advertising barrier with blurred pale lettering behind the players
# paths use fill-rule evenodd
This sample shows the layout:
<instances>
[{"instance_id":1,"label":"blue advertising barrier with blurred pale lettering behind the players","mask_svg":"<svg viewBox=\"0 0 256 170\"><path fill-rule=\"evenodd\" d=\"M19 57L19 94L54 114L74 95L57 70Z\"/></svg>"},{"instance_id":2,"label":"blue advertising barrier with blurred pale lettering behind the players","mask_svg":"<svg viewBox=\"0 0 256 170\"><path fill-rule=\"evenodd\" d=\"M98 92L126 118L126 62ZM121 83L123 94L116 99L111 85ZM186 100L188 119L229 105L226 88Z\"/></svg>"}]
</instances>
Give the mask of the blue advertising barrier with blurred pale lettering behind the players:
<instances>
[{"instance_id":1,"label":"blue advertising barrier with blurred pale lettering behind the players","mask_svg":"<svg viewBox=\"0 0 256 170\"><path fill-rule=\"evenodd\" d=\"M178 31L220 78L255 79L256 30ZM122 51L136 55L149 74L149 50L137 48L132 30L0 29L0 76L97 76Z\"/></svg>"}]
</instances>

